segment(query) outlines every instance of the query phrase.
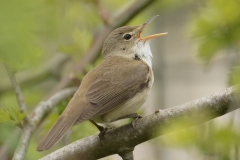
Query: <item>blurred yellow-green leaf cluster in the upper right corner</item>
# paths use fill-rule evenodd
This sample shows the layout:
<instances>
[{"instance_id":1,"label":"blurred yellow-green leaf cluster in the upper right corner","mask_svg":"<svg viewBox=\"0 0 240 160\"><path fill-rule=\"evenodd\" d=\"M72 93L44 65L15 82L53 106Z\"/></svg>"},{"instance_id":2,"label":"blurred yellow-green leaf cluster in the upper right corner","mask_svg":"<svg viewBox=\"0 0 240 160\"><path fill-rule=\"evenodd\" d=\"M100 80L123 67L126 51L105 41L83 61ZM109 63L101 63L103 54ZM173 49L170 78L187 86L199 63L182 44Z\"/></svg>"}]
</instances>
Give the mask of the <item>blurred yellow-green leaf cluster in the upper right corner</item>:
<instances>
[{"instance_id":1,"label":"blurred yellow-green leaf cluster in the upper right corner","mask_svg":"<svg viewBox=\"0 0 240 160\"><path fill-rule=\"evenodd\" d=\"M240 1L210 0L193 22L193 38L199 43L199 57L205 61L226 48L239 48Z\"/></svg>"}]
</instances>

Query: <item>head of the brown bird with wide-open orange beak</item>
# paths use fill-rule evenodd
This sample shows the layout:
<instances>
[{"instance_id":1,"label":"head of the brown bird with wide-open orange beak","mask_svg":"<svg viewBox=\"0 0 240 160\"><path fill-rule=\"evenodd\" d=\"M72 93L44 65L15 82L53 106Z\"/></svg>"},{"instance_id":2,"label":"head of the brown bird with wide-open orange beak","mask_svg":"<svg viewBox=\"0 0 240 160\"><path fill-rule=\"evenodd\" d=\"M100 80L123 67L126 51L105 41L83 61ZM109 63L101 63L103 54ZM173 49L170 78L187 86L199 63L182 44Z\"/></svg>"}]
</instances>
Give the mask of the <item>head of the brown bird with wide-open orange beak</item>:
<instances>
[{"instance_id":1,"label":"head of the brown bird with wide-open orange beak","mask_svg":"<svg viewBox=\"0 0 240 160\"><path fill-rule=\"evenodd\" d=\"M150 51L149 41L152 38L167 34L159 33L141 38L144 28L157 16L138 26L123 26L113 30L104 41L102 49L103 58L109 55L132 57L132 55L139 53L139 50L140 52Z\"/></svg>"}]
</instances>

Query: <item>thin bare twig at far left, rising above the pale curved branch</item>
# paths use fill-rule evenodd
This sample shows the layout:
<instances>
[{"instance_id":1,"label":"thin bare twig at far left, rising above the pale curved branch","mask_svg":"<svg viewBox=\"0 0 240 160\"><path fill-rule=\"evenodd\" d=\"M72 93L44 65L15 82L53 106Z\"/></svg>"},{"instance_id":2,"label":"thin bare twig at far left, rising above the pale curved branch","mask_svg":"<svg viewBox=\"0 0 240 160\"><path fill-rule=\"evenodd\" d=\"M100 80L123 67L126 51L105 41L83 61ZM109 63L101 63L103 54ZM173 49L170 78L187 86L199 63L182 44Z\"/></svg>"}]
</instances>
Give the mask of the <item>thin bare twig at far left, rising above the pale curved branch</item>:
<instances>
[{"instance_id":1,"label":"thin bare twig at far left, rising above the pale curved branch","mask_svg":"<svg viewBox=\"0 0 240 160\"><path fill-rule=\"evenodd\" d=\"M11 83L12 83L12 86L13 86L13 89L14 89L14 93L16 95L17 102L18 102L18 105L19 105L19 110L20 110L21 113L25 113L26 110L27 110L27 107L26 107L26 104L25 104L24 99L23 99L23 95L22 95L20 85L18 84L18 82L16 80L16 77L15 77L14 73L12 72L12 70L7 65L5 65L5 68L7 70L9 79L11 80Z\"/></svg>"}]
</instances>

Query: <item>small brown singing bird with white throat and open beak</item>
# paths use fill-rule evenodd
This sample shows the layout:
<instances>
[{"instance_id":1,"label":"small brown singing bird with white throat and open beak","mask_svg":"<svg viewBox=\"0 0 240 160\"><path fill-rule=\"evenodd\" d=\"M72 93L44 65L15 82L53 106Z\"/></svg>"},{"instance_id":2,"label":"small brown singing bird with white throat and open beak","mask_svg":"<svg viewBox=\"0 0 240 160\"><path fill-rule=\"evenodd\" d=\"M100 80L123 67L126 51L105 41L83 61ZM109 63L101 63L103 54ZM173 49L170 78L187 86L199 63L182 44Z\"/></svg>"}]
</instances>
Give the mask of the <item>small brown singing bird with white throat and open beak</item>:
<instances>
[{"instance_id":1,"label":"small brown singing bird with white throat and open beak","mask_svg":"<svg viewBox=\"0 0 240 160\"><path fill-rule=\"evenodd\" d=\"M159 33L141 38L144 28L158 15L143 24L114 29L105 39L102 61L89 71L52 128L40 140L37 151L56 144L73 125L89 120L104 133L98 123L124 118L140 118L136 112L152 88L152 52L149 42Z\"/></svg>"}]
</instances>

